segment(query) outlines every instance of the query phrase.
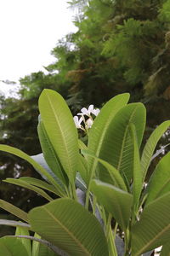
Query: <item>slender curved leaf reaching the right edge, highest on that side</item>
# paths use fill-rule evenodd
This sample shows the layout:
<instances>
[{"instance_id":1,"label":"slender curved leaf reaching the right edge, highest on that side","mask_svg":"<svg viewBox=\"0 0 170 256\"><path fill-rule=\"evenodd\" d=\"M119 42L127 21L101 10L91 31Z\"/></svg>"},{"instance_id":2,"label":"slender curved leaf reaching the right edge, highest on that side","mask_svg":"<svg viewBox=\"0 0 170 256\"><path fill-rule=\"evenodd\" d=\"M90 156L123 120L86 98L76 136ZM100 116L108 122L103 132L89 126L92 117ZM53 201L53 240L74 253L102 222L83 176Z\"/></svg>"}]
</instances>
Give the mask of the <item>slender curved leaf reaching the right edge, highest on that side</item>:
<instances>
[{"instance_id":1,"label":"slender curved leaf reaching the right edge, highest on that side","mask_svg":"<svg viewBox=\"0 0 170 256\"><path fill-rule=\"evenodd\" d=\"M156 144L160 140L163 133L165 131L167 131L169 126L170 126L170 120L165 121L161 125L156 127L156 129L152 132L147 143L144 146L144 150L143 150L143 154L142 154L142 158L141 158L143 182L144 182L146 173L148 171L148 167L150 166L151 157L156 148Z\"/></svg>"}]
</instances>

